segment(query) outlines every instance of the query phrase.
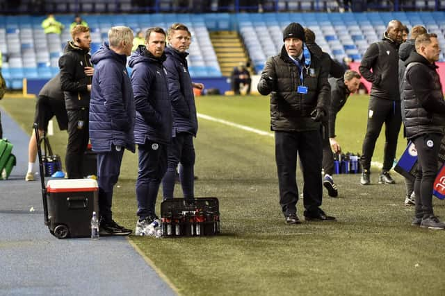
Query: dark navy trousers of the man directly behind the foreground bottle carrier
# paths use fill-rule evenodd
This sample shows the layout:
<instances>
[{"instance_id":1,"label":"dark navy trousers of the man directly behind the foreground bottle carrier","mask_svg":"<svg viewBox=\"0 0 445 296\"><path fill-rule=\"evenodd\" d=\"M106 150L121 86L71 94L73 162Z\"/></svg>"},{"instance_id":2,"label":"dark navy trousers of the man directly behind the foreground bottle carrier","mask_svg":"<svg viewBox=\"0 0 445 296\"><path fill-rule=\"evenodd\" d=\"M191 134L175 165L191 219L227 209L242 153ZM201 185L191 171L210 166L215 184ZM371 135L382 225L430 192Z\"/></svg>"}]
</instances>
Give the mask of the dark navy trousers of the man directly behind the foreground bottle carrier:
<instances>
[{"instance_id":1,"label":"dark navy trousers of the man directly behind the foreground bottle carrier","mask_svg":"<svg viewBox=\"0 0 445 296\"><path fill-rule=\"evenodd\" d=\"M193 200L195 177L195 148L193 147L193 135L188 132L179 132L172 139L172 145L168 149L167 172L162 180L164 199L173 198L175 191L176 168L181 162L179 180L181 181L184 199Z\"/></svg>"}]
</instances>

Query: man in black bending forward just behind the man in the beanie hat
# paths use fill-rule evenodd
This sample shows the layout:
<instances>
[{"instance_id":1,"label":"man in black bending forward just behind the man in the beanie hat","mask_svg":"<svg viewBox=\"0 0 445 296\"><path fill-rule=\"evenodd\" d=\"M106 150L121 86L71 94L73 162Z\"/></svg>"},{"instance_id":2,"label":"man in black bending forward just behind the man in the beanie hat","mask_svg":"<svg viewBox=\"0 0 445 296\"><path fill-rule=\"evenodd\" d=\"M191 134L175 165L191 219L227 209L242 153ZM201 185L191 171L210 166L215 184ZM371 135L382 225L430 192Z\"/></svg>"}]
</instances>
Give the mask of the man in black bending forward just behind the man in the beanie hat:
<instances>
[{"instance_id":1,"label":"man in black bending forward just behind the man in the beanie hat","mask_svg":"<svg viewBox=\"0 0 445 296\"><path fill-rule=\"evenodd\" d=\"M335 139L335 120L337 113L348 101L350 94L354 94L359 89L360 74L353 70L348 70L341 78L329 78L331 86L331 100L327 110L328 128L326 137L323 138L323 170L325 177L323 178L323 186L327 189L327 193L331 197L339 195L337 185L334 184L332 174L334 173L334 155L332 153L341 153L340 143Z\"/></svg>"}]
</instances>

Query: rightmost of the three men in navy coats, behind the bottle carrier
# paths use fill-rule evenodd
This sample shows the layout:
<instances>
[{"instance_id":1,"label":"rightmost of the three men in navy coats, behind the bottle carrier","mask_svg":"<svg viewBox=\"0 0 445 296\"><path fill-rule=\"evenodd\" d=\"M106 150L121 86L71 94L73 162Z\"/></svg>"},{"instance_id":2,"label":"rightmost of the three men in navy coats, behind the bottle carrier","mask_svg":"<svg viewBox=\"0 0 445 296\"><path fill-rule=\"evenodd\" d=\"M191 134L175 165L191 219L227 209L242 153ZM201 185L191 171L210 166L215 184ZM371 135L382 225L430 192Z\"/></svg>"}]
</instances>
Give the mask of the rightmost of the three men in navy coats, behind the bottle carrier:
<instances>
[{"instance_id":1,"label":"rightmost of the three men in navy coats, behind the bottle carrier","mask_svg":"<svg viewBox=\"0 0 445 296\"><path fill-rule=\"evenodd\" d=\"M197 133L197 116L193 82L188 73L186 57L190 31L184 24L172 24L168 29L168 46L165 48L167 60L163 63L167 70L168 90L172 102L173 130L172 145L168 150L168 166L162 180L163 198L173 198L176 170L179 162L179 180L185 200L193 200L195 148L193 137ZM204 85L199 84L200 89Z\"/></svg>"}]
</instances>

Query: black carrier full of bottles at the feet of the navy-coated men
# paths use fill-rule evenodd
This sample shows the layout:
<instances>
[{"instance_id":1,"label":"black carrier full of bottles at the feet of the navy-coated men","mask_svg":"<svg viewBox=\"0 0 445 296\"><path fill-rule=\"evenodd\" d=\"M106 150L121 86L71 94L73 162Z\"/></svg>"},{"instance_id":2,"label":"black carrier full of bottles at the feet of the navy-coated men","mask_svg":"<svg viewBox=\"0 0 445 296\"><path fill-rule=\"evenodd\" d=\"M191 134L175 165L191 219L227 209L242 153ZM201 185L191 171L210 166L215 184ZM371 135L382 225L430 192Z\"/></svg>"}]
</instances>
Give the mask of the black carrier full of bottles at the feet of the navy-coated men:
<instances>
[{"instance_id":1,"label":"black carrier full of bottles at the feet of the navy-coated men","mask_svg":"<svg viewBox=\"0 0 445 296\"><path fill-rule=\"evenodd\" d=\"M214 236L221 232L218 198L173 198L161 203L163 237Z\"/></svg>"}]
</instances>

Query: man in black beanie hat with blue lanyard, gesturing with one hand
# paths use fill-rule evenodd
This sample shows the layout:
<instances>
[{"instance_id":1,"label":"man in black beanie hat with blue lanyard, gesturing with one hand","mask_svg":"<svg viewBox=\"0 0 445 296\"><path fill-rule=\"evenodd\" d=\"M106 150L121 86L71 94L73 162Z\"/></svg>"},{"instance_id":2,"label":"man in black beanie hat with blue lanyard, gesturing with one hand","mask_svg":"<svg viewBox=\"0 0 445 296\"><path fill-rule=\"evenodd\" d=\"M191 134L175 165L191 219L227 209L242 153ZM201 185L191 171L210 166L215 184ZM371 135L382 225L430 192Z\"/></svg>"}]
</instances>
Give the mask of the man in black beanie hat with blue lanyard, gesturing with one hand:
<instances>
[{"instance_id":1,"label":"man in black beanie hat with blue lanyard, gesturing with one hand","mask_svg":"<svg viewBox=\"0 0 445 296\"><path fill-rule=\"evenodd\" d=\"M305 220L335 220L320 208L322 202L321 120L327 115L330 86L321 61L310 55L303 42L305 31L291 23L283 31L281 53L269 58L258 84L260 94L270 94L270 129L275 132L280 205L286 223L299 224L297 216L297 155L303 178Z\"/></svg>"}]
</instances>

